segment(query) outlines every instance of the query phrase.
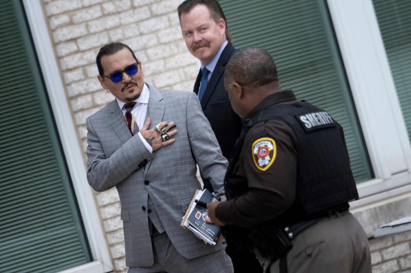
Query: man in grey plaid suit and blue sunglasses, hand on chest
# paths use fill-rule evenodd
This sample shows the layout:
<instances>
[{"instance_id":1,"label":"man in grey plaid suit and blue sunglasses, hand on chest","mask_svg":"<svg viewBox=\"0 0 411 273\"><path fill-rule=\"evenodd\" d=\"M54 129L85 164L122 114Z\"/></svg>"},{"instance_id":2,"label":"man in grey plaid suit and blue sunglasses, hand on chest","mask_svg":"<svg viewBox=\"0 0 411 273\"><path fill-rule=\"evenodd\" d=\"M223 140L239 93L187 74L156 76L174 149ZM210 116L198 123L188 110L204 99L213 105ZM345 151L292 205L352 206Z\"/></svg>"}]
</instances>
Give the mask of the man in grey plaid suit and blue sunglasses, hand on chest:
<instances>
[{"instance_id":1,"label":"man in grey plaid suit and blue sunglasses, hand on chest","mask_svg":"<svg viewBox=\"0 0 411 273\"><path fill-rule=\"evenodd\" d=\"M87 118L87 180L98 192L117 187L129 272L232 272L225 243L205 244L180 226L200 188L196 164L218 195L227 169L196 95L144 83L121 43L102 47L97 66L116 99Z\"/></svg>"}]
</instances>

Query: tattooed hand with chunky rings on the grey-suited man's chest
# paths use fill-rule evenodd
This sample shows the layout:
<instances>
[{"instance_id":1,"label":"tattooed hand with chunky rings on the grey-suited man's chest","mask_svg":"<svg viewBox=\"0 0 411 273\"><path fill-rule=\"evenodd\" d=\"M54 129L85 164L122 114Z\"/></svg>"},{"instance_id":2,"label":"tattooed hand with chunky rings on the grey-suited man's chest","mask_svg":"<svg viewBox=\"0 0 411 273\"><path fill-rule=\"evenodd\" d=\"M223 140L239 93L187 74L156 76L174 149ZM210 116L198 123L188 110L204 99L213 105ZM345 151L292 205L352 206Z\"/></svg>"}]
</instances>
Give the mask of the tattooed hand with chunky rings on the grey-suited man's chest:
<instances>
[{"instance_id":1,"label":"tattooed hand with chunky rings on the grey-suited man's chest","mask_svg":"<svg viewBox=\"0 0 411 273\"><path fill-rule=\"evenodd\" d=\"M174 138L170 138L169 140L162 141L161 139L162 134L157 131L156 127L153 127L150 130L148 129L148 127L150 126L150 123L151 123L151 118L148 117L147 120L144 122L144 125L141 128L140 133L145 138L145 140L148 142L148 144L152 146L153 152L163 146L170 145L171 143L176 141ZM166 132L167 135L169 135L170 137L174 136L178 132L178 130L169 131L174 126L173 121L170 123L166 121L161 121L159 124L160 124L160 127L163 129L163 131Z\"/></svg>"}]
</instances>

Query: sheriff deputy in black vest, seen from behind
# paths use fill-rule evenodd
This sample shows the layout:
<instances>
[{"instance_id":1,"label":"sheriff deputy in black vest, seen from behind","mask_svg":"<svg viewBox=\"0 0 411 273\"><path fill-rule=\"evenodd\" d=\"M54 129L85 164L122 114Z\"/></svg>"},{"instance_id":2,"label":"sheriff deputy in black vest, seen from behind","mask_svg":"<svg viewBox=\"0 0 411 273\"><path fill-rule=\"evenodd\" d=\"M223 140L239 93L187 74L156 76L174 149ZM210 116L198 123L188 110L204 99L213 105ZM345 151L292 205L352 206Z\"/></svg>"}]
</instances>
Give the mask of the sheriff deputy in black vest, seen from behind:
<instances>
[{"instance_id":1,"label":"sheriff deputy in black vest, seen from behind","mask_svg":"<svg viewBox=\"0 0 411 273\"><path fill-rule=\"evenodd\" d=\"M348 211L358 192L341 125L283 91L266 50L240 50L225 73L245 125L226 174L228 200L208 205L209 221L253 250L265 272L371 272L367 236Z\"/></svg>"}]
</instances>

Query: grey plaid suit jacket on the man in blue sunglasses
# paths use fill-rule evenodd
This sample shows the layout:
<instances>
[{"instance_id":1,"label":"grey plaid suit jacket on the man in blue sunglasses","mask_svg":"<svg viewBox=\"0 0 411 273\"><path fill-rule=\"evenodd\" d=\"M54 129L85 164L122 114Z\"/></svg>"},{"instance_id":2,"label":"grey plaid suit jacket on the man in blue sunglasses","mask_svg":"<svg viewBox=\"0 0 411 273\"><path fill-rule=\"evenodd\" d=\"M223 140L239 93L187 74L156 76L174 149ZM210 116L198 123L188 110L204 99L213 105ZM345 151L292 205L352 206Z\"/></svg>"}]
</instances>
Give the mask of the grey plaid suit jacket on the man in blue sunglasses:
<instances>
[{"instance_id":1,"label":"grey plaid suit jacket on the man in blue sunglasses","mask_svg":"<svg viewBox=\"0 0 411 273\"><path fill-rule=\"evenodd\" d=\"M146 117L150 128L160 121L174 121L176 141L153 154L140 137L132 137L123 114L114 100L87 118L87 180L97 192L116 186L121 201L126 265L153 265L148 227L147 197L150 195L167 236L185 258L197 258L225 245L204 244L181 228L181 218L200 183L196 163L214 190L223 194L227 161L204 117L193 92L160 90L147 85L150 100ZM150 183L145 185L144 181ZM146 182L147 183L147 182Z\"/></svg>"}]
</instances>

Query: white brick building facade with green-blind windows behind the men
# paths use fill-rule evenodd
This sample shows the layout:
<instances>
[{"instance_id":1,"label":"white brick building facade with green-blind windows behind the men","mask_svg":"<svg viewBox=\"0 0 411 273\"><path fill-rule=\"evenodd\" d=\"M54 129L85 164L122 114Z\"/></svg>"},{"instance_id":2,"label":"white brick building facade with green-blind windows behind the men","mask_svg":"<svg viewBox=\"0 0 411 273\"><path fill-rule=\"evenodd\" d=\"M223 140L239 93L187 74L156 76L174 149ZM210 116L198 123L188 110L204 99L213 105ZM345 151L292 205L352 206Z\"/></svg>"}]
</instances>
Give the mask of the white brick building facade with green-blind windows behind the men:
<instances>
[{"instance_id":1,"label":"white brick building facade with green-blind windows behind the men","mask_svg":"<svg viewBox=\"0 0 411 273\"><path fill-rule=\"evenodd\" d=\"M411 232L373 238L411 215L409 1L219 2L237 48L266 48L282 87L343 125L360 194L351 212L369 236L373 271L409 272ZM121 41L146 82L192 90L199 62L181 36L181 0L0 3L1 264L8 272L126 271L117 191L92 192L85 175L85 120L114 99L95 58Z\"/></svg>"}]
</instances>

